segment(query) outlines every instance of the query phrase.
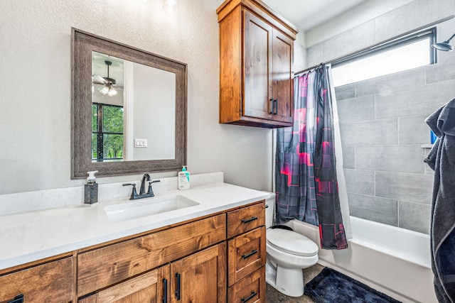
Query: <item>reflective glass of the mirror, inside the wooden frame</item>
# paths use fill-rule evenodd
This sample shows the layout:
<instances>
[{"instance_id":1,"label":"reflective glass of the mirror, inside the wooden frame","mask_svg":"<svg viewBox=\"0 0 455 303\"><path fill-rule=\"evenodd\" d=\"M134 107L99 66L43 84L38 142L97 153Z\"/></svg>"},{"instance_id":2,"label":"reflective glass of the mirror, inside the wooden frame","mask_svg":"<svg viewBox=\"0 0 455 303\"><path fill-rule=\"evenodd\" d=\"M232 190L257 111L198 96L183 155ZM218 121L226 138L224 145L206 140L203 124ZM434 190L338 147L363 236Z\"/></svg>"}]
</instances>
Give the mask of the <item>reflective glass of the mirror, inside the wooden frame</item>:
<instances>
[{"instance_id":1,"label":"reflective glass of the mirror, inside the wooden frame","mask_svg":"<svg viewBox=\"0 0 455 303\"><path fill-rule=\"evenodd\" d=\"M175 99L174 73L92 52L92 162L175 158Z\"/></svg>"}]
</instances>

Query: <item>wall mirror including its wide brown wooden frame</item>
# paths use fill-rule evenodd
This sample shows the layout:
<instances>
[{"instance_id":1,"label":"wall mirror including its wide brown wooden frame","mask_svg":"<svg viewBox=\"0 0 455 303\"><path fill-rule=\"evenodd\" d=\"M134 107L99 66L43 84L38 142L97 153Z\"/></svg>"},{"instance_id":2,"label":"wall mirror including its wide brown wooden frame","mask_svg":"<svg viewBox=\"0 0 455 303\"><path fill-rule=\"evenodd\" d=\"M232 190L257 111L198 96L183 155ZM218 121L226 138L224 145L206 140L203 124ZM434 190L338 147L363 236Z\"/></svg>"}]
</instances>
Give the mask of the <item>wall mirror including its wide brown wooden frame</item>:
<instances>
[{"instance_id":1,"label":"wall mirror including its wide brown wooden frame","mask_svg":"<svg viewBox=\"0 0 455 303\"><path fill-rule=\"evenodd\" d=\"M187 65L72 31L71 178L186 165Z\"/></svg>"}]
</instances>

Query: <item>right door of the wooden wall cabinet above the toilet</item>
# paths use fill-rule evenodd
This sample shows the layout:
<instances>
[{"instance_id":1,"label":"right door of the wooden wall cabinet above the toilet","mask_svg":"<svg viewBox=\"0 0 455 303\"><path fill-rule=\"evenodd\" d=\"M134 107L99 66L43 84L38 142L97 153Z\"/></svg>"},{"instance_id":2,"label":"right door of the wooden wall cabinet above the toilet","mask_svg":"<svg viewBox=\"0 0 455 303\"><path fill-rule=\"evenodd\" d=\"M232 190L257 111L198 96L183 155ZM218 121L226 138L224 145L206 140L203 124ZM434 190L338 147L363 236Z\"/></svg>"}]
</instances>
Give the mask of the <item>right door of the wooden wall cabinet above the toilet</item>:
<instances>
[{"instance_id":1,"label":"right door of the wooden wall cabinet above the toilet","mask_svg":"<svg viewBox=\"0 0 455 303\"><path fill-rule=\"evenodd\" d=\"M289 123L294 121L293 48L293 41L274 29L272 119Z\"/></svg>"}]
</instances>

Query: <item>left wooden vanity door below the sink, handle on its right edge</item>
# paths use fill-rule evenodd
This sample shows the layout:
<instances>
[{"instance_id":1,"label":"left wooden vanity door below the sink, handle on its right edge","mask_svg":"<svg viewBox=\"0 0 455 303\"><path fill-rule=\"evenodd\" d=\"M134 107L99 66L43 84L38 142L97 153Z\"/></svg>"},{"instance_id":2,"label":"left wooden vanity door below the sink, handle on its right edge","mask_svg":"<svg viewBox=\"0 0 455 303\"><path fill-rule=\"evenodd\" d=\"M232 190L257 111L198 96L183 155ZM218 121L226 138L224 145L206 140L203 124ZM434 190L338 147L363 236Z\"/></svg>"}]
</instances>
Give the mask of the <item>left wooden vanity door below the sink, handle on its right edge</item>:
<instances>
[{"instance_id":1,"label":"left wooden vanity door below the sink, handle on its right edge","mask_svg":"<svg viewBox=\"0 0 455 303\"><path fill-rule=\"evenodd\" d=\"M169 265L79 300L79 303L161 303L168 302Z\"/></svg>"}]
</instances>

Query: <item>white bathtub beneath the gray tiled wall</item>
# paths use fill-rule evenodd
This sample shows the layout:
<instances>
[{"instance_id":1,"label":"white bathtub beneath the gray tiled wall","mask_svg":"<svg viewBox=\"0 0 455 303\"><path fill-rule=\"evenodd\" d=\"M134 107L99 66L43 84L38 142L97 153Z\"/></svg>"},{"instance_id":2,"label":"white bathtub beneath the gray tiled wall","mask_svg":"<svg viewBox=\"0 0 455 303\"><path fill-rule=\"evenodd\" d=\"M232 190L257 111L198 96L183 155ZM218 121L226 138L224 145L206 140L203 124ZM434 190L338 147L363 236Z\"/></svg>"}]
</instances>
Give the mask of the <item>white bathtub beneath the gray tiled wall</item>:
<instances>
[{"instance_id":1,"label":"white bathtub beneath the gray tiled wall","mask_svg":"<svg viewBox=\"0 0 455 303\"><path fill-rule=\"evenodd\" d=\"M350 217L353 238L346 250L319 250L319 263L343 272L402 302L437 303L429 236ZM320 246L316 226L293 220L294 231Z\"/></svg>"}]
</instances>

